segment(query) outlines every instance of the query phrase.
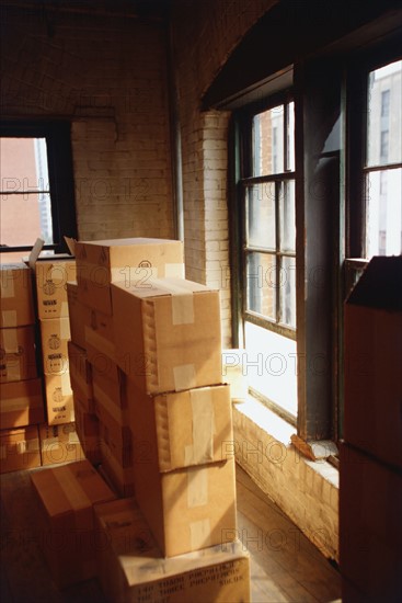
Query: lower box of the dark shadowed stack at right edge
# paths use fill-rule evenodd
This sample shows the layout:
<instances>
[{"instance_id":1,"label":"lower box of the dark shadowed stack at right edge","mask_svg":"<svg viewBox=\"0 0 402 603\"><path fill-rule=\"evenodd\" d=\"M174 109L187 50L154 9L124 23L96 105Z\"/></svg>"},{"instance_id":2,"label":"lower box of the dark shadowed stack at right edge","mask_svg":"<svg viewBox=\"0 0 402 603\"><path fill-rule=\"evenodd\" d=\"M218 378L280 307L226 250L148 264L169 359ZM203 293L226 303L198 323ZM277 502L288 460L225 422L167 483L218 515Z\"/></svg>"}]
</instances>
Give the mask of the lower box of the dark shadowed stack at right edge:
<instances>
[{"instance_id":1,"label":"lower box of the dark shadowed stack at right edge","mask_svg":"<svg viewBox=\"0 0 402 603\"><path fill-rule=\"evenodd\" d=\"M342 576L366 601L399 601L402 474L345 443L340 462Z\"/></svg>"}]
</instances>

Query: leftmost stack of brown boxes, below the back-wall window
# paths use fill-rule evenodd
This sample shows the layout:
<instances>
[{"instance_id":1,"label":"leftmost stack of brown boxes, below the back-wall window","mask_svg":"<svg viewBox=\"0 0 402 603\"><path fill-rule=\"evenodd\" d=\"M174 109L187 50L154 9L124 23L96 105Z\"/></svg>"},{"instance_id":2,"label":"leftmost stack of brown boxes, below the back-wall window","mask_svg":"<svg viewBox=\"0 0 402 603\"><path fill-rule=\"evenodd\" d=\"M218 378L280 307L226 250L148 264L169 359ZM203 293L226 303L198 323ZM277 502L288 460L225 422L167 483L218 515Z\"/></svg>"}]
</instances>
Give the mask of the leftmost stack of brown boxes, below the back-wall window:
<instances>
[{"instance_id":1,"label":"leftmost stack of brown boxes, below the back-wall window","mask_svg":"<svg viewBox=\"0 0 402 603\"><path fill-rule=\"evenodd\" d=\"M35 344L31 271L0 266L1 473L41 465L37 424L44 420Z\"/></svg>"}]
</instances>

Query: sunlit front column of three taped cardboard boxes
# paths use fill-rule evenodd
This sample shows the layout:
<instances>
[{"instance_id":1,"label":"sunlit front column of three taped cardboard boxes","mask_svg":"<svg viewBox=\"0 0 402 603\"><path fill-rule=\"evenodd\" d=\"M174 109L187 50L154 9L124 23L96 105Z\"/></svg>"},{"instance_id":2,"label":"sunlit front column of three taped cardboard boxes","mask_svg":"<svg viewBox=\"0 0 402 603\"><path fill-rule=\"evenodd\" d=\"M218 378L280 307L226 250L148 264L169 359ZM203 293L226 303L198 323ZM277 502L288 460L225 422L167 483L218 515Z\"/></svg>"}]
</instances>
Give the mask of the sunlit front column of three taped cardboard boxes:
<instances>
[{"instance_id":1,"label":"sunlit front column of three taped cardboard boxes","mask_svg":"<svg viewBox=\"0 0 402 603\"><path fill-rule=\"evenodd\" d=\"M229 387L221 384L219 292L180 278L112 285L117 361L127 376L135 492L162 554L220 544L236 530Z\"/></svg>"}]
</instances>

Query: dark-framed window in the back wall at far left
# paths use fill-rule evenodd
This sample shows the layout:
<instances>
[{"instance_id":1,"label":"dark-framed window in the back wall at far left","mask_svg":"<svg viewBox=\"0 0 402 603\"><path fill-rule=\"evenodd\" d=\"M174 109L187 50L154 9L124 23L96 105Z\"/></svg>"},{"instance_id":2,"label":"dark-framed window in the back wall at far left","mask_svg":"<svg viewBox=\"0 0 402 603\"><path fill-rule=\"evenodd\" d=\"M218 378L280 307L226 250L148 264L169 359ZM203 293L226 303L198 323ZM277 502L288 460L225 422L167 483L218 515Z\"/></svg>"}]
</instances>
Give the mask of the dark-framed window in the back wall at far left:
<instances>
[{"instance_id":1,"label":"dark-framed window in the back wall at far left","mask_svg":"<svg viewBox=\"0 0 402 603\"><path fill-rule=\"evenodd\" d=\"M76 237L68 124L1 124L1 261L21 260L41 237L49 253Z\"/></svg>"}]
</instances>

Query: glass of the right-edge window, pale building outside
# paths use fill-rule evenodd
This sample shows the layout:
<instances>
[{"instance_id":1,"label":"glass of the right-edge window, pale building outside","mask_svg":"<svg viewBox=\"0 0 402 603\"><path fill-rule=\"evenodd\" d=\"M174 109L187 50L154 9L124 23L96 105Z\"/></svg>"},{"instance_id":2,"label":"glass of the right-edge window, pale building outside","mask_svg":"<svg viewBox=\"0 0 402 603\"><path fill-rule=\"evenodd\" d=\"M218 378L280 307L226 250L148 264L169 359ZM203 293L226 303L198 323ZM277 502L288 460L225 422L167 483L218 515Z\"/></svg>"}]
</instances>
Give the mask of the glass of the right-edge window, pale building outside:
<instances>
[{"instance_id":1,"label":"glass of the right-edge window, pale building outside","mask_svg":"<svg viewBox=\"0 0 402 603\"><path fill-rule=\"evenodd\" d=\"M402 60L368 73L364 254L402 253Z\"/></svg>"}]
</instances>

